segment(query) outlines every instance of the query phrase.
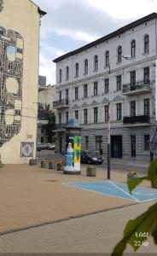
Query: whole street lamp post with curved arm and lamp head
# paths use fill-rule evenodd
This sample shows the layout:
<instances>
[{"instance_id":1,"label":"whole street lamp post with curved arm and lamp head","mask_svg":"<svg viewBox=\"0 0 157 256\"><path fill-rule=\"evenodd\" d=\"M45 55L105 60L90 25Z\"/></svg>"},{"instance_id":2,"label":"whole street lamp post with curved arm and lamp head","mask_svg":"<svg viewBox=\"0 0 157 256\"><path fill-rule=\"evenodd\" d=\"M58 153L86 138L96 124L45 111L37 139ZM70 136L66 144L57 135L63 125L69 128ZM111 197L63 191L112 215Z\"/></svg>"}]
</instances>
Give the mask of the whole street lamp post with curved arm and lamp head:
<instances>
[{"instance_id":1,"label":"whole street lamp post with curved arm and lamp head","mask_svg":"<svg viewBox=\"0 0 157 256\"><path fill-rule=\"evenodd\" d=\"M113 57L117 57L117 55L114 55ZM131 60L130 55L122 55L122 58L124 58L127 61ZM112 59L111 59L111 61L112 61ZM108 86L108 179L111 178L111 165L110 165L110 160L111 160L111 118L110 118L111 106L110 106L110 103L111 102L110 102L110 89L109 89L110 80L111 80L111 61L109 61L109 70L108 70L108 74L109 74L109 86Z\"/></svg>"}]
</instances>

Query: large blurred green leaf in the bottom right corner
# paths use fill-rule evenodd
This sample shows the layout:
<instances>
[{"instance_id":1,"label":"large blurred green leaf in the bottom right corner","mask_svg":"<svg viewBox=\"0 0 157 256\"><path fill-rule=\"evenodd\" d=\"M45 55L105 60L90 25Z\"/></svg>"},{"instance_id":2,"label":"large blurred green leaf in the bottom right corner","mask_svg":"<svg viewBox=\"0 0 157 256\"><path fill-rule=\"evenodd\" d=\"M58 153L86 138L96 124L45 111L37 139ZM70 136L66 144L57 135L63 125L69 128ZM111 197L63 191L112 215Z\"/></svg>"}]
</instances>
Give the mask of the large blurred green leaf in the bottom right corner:
<instances>
[{"instance_id":1,"label":"large blurred green leaf in the bottom right corner","mask_svg":"<svg viewBox=\"0 0 157 256\"><path fill-rule=\"evenodd\" d=\"M154 237L154 242L157 244L157 203L149 207L146 212L143 212L137 218L130 220L124 230L124 236L121 241L113 248L113 255L121 256L125 251L127 243L137 249L142 245L142 241L148 239L147 236L139 236L139 234L149 234ZM136 243L138 241L138 243Z\"/></svg>"}]
</instances>

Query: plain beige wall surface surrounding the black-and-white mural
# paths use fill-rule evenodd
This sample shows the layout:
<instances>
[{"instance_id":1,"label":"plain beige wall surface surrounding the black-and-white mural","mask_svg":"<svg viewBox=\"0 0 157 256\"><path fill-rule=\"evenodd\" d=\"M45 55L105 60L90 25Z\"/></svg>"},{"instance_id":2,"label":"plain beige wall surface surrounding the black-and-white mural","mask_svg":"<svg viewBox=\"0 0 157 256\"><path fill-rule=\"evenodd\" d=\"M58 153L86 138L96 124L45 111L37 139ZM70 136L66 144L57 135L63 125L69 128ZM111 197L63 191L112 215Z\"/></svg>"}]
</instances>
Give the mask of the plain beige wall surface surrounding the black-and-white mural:
<instances>
[{"instance_id":1,"label":"plain beige wall surface surrounding the black-and-white mural","mask_svg":"<svg viewBox=\"0 0 157 256\"><path fill-rule=\"evenodd\" d=\"M15 97L12 109L5 112L9 125L17 122L19 130L0 148L1 160L4 164L27 163L29 157L21 157L21 142L33 143L33 157L36 157L36 137L38 118L38 51L39 51L39 20L38 7L29 0L3 0L3 10L0 11L0 26L6 31L18 32L23 38L17 40L17 47L23 49L23 57L16 53L17 60L23 60L21 81L21 96ZM10 57L10 61L11 60ZM13 93L17 90L15 81L9 81L8 88ZM7 89L8 90L8 89ZM12 91L10 92L12 93ZM15 111L16 109L16 111ZM17 110L20 110L20 113ZM17 116L16 116L17 114ZM3 125L3 124L2 124ZM11 127L10 127L11 129ZM2 134L0 135L2 139ZM29 148L28 148L29 150Z\"/></svg>"}]
</instances>

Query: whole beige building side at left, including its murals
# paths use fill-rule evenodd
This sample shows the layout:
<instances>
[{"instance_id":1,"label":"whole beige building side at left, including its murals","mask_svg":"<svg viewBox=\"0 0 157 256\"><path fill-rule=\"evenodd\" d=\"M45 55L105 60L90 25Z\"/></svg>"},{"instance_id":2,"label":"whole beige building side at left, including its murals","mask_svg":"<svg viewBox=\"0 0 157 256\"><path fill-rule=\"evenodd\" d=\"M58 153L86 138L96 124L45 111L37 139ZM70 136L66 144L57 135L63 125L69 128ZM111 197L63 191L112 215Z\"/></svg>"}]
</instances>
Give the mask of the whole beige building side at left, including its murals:
<instances>
[{"instance_id":1,"label":"whole beige building side at left, including its murals","mask_svg":"<svg viewBox=\"0 0 157 256\"><path fill-rule=\"evenodd\" d=\"M4 164L27 163L36 156L42 15L44 11L32 1L0 0L0 154Z\"/></svg>"}]
</instances>

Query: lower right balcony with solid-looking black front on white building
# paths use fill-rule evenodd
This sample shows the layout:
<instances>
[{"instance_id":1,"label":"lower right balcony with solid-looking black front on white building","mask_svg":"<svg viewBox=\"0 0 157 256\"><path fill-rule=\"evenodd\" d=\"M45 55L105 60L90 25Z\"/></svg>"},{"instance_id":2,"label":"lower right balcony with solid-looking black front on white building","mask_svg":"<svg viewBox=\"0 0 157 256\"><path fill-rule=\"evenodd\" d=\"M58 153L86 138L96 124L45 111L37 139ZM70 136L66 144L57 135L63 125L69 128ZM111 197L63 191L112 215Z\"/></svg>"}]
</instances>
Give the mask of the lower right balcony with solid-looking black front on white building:
<instances>
[{"instance_id":1,"label":"lower right balcony with solid-looking black front on white building","mask_svg":"<svg viewBox=\"0 0 157 256\"><path fill-rule=\"evenodd\" d=\"M123 118L123 125L125 127L130 126L147 126L150 125L150 116L146 115L135 115L135 116L125 116Z\"/></svg>"}]
</instances>

